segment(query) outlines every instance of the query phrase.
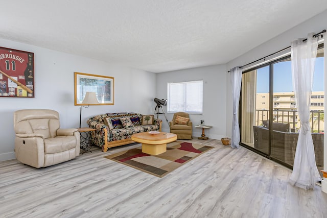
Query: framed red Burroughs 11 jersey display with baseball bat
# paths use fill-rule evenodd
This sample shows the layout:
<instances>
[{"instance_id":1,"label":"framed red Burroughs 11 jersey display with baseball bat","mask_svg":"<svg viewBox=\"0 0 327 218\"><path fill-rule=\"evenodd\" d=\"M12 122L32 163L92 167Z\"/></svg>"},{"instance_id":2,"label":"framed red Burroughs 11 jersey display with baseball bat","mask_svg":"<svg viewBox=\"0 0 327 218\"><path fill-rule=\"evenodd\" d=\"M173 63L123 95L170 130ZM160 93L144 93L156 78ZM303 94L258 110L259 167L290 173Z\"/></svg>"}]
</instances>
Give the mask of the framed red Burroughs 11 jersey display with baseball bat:
<instances>
[{"instance_id":1,"label":"framed red Burroughs 11 jersey display with baseball bat","mask_svg":"<svg viewBox=\"0 0 327 218\"><path fill-rule=\"evenodd\" d=\"M34 98L34 53L0 47L0 97Z\"/></svg>"}]
</instances>

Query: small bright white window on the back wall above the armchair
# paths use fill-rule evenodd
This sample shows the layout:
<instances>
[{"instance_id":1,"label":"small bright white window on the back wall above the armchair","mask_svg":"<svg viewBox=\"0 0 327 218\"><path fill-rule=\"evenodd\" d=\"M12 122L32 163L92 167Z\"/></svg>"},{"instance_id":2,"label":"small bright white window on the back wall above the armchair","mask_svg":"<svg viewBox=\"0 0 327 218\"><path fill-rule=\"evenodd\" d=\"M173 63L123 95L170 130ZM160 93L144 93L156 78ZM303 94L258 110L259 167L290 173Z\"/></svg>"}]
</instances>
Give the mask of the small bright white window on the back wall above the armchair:
<instances>
[{"instance_id":1,"label":"small bright white window on the back wall above the armchair","mask_svg":"<svg viewBox=\"0 0 327 218\"><path fill-rule=\"evenodd\" d=\"M168 113L202 114L203 81L168 83Z\"/></svg>"}]
</instances>

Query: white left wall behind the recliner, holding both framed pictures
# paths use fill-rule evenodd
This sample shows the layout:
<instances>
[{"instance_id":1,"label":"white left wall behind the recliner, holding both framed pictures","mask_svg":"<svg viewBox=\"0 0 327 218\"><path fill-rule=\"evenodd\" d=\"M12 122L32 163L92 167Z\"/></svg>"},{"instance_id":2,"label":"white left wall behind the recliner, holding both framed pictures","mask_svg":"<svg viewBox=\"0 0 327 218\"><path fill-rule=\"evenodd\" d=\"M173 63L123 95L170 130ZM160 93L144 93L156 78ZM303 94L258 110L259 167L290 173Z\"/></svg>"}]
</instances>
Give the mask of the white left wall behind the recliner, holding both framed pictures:
<instances>
[{"instance_id":1,"label":"white left wall behind the recliner, holding both framed pictures","mask_svg":"<svg viewBox=\"0 0 327 218\"><path fill-rule=\"evenodd\" d=\"M79 127L80 107L74 106L74 72L114 77L114 105L82 109L82 127L88 117L113 112L153 114L156 74L0 39L0 46L33 52L35 98L0 98L0 161L14 159L13 113L20 109L53 109L61 128Z\"/></svg>"}]
</instances>

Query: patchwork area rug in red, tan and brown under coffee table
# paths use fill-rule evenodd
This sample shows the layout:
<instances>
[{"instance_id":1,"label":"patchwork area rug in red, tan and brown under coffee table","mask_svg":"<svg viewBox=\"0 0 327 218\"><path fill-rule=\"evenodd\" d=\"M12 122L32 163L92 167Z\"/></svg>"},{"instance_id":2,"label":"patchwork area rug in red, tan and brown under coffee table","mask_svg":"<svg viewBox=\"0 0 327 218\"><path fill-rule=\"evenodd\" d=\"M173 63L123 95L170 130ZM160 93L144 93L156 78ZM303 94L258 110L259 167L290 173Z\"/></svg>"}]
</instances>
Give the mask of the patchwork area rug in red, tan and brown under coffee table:
<instances>
[{"instance_id":1,"label":"patchwork area rug in red, tan and brown under coffee table","mask_svg":"<svg viewBox=\"0 0 327 218\"><path fill-rule=\"evenodd\" d=\"M193 160L214 147L175 141L167 144L167 151L159 155L142 153L142 147L105 156L110 160L139 169L157 177L164 177L179 166Z\"/></svg>"}]
</instances>

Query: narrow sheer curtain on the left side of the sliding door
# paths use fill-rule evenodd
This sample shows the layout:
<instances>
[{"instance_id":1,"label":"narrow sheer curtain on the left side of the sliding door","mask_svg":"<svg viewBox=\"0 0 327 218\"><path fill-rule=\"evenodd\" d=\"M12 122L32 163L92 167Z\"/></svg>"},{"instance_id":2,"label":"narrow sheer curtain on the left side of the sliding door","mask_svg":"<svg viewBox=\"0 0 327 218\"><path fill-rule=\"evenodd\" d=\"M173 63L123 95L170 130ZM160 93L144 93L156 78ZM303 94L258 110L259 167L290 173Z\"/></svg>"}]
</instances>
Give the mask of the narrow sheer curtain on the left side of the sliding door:
<instances>
[{"instance_id":1,"label":"narrow sheer curtain on the left side of the sliding door","mask_svg":"<svg viewBox=\"0 0 327 218\"><path fill-rule=\"evenodd\" d=\"M231 131L231 143L230 146L233 149L239 148L240 145L240 126L239 126L239 102L242 82L242 69L240 67L234 67L230 69L230 82L232 87L233 98L233 123Z\"/></svg>"}]
</instances>

